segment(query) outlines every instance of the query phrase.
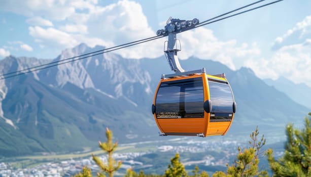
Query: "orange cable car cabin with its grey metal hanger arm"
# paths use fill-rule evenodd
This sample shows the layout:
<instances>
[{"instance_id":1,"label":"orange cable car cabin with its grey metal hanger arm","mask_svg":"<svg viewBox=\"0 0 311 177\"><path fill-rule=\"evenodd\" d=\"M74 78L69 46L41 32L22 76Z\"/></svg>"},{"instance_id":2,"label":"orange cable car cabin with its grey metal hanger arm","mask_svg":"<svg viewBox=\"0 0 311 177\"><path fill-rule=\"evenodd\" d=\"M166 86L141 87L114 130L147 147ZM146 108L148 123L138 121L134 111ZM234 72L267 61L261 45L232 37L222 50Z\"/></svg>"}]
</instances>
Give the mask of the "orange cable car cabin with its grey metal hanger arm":
<instances>
[{"instance_id":1,"label":"orange cable car cabin with its grey metal hanger arm","mask_svg":"<svg viewBox=\"0 0 311 177\"><path fill-rule=\"evenodd\" d=\"M167 32L164 54L175 73L162 74L154 95L152 114L161 131L160 136L225 135L236 111L225 74L209 75L205 68L185 71L177 56L181 51L180 40L176 37L179 31L171 29Z\"/></svg>"}]
</instances>

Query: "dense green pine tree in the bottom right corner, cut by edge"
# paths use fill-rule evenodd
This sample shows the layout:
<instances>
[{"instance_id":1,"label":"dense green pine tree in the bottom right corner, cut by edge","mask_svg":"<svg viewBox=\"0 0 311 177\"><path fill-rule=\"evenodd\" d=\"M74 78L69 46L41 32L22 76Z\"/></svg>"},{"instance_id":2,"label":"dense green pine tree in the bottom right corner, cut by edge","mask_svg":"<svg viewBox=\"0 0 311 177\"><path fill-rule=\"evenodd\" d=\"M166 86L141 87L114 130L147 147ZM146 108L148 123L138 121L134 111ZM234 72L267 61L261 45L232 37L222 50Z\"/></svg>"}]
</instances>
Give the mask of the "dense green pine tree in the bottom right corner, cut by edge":
<instances>
[{"instance_id":1,"label":"dense green pine tree in the bottom right corner, cut by edge","mask_svg":"<svg viewBox=\"0 0 311 177\"><path fill-rule=\"evenodd\" d=\"M268 150L268 162L273 176L311 176L311 123L310 116L304 119L302 130L286 126L287 142L283 157L278 161L273 157L273 151Z\"/></svg>"}]
</instances>

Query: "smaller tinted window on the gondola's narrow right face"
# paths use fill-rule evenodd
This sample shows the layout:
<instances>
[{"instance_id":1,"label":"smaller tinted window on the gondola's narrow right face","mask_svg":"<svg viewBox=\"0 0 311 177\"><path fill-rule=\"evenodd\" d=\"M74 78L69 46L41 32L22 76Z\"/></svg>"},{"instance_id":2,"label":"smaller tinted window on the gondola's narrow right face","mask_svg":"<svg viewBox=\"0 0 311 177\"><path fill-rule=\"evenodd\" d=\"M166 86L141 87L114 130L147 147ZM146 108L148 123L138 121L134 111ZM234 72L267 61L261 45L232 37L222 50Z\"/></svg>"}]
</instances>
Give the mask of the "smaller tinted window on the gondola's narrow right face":
<instances>
[{"instance_id":1,"label":"smaller tinted window on the gondola's narrow right face","mask_svg":"<svg viewBox=\"0 0 311 177\"><path fill-rule=\"evenodd\" d=\"M230 121L233 97L227 82L209 79L210 97L213 104L211 121Z\"/></svg>"}]
</instances>

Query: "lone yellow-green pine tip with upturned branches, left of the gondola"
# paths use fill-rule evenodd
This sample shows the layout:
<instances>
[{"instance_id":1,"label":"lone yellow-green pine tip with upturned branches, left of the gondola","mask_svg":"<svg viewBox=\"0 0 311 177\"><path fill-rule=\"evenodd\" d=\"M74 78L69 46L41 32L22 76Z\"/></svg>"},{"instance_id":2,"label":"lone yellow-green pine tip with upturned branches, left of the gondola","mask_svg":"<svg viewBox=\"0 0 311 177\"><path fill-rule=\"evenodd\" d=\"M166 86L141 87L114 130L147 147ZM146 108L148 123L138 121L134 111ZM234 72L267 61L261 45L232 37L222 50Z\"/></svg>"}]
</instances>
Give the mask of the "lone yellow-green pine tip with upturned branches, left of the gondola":
<instances>
[{"instance_id":1,"label":"lone yellow-green pine tip with upturned branches, left of the gondola","mask_svg":"<svg viewBox=\"0 0 311 177\"><path fill-rule=\"evenodd\" d=\"M122 165L122 162L116 162L115 159L113 159L112 154L117 149L118 143L112 142L112 131L108 128L106 129L106 137L107 141L105 143L99 142L99 147L105 151L108 154L108 162L107 164L104 164L99 157L96 157L92 154L93 160L98 165L98 167L102 170L104 173L108 173L110 177L113 177L114 172L116 172ZM97 176L105 176L105 174L99 172Z\"/></svg>"}]
</instances>

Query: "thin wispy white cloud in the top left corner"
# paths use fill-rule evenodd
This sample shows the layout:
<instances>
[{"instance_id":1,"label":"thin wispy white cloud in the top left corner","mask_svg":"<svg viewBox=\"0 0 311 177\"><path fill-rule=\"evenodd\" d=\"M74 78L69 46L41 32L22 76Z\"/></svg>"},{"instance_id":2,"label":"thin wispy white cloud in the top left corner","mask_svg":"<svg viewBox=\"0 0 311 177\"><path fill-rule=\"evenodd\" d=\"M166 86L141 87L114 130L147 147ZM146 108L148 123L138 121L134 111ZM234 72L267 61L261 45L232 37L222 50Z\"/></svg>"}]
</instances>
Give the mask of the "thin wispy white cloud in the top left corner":
<instances>
[{"instance_id":1,"label":"thin wispy white cloud in the top left corner","mask_svg":"<svg viewBox=\"0 0 311 177\"><path fill-rule=\"evenodd\" d=\"M96 9L96 4L97 1L94 0L11 0L1 2L0 12L7 11L30 17L27 23L34 26L52 26L51 21L63 20L81 24L87 21L88 14Z\"/></svg>"}]
</instances>

